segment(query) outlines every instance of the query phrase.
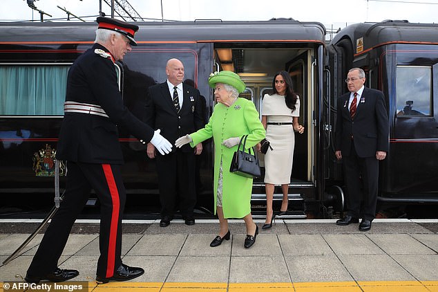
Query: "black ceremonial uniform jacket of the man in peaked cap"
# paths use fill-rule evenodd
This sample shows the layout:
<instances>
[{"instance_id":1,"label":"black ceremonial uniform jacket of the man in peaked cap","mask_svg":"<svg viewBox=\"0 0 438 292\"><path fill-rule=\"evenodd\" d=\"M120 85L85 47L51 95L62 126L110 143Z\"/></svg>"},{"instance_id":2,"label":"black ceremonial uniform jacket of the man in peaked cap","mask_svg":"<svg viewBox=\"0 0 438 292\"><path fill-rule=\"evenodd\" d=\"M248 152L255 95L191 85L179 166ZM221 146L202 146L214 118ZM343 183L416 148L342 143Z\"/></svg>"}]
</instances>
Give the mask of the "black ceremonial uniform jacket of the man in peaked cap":
<instances>
[{"instance_id":1,"label":"black ceremonial uniform jacket of the man in peaked cap","mask_svg":"<svg viewBox=\"0 0 438 292\"><path fill-rule=\"evenodd\" d=\"M88 113L66 112L59 132L57 158L82 163L122 164L123 155L117 126L144 141L153 137L153 129L137 119L124 106L111 55L94 44L77 58L68 71L66 102L95 104L108 118Z\"/></svg>"}]
</instances>

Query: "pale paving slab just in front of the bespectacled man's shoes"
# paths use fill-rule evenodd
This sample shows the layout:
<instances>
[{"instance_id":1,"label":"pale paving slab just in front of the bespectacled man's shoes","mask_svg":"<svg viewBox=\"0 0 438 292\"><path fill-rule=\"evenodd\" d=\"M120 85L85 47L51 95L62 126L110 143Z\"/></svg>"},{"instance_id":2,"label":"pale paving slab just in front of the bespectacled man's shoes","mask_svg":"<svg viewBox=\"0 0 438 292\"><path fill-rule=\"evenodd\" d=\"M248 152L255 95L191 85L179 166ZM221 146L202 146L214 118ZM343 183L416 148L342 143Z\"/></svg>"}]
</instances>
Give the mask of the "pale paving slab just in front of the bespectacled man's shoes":
<instances>
[{"instance_id":1,"label":"pale paving slab just in front of the bespectacled man's shoes","mask_svg":"<svg viewBox=\"0 0 438 292\"><path fill-rule=\"evenodd\" d=\"M322 235L336 255L376 255L383 250L365 234L325 234Z\"/></svg>"}]
</instances>

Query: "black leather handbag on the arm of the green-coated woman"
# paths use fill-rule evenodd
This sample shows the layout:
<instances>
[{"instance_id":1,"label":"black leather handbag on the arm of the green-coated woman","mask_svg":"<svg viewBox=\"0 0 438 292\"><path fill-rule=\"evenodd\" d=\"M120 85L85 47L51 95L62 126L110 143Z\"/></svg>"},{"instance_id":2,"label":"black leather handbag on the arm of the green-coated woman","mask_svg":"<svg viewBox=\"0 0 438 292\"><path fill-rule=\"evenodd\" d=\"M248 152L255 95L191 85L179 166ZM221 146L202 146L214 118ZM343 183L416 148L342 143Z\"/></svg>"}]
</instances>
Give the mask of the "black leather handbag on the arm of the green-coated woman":
<instances>
[{"instance_id":1,"label":"black leather handbag on the arm of the green-coated woman","mask_svg":"<svg viewBox=\"0 0 438 292\"><path fill-rule=\"evenodd\" d=\"M242 144L243 141L243 144ZM258 159L256 156L251 154L254 153L254 149L251 147L248 149L248 153L245 152L245 144L247 143L247 135L242 136L240 139L237 151L234 152L233 159L231 160L231 165L229 167L229 172L234 172L240 176L245 176L253 179L254 177L260 177L260 165L258 165ZM240 150L240 145L242 145L242 150Z\"/></svg>"}]
</instances>

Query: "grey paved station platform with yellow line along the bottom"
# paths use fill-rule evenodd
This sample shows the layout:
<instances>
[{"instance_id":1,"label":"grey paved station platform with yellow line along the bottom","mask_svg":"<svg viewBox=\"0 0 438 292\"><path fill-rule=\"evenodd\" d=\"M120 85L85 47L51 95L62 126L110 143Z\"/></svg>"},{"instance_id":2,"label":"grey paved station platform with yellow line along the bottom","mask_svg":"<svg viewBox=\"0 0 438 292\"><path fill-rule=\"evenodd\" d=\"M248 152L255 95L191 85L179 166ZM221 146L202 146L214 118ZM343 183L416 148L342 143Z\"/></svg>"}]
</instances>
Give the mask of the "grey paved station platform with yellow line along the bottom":
<instances>
[{"instance_id":1,"label":"grey paved station platform with yellow line along the bottom","mask_svg":"<svg viewBox=\"0 0 438 292\"><path fill-rule=\"evenodd\" d=\"M438 220L375 219L368 232L334 219L276 220L249 249L245 224L230 220L231 240L211 248L217 220L186 226L173 220L123 221L124 264L144 275L128 282L97 284L99 222L78 220L59 261L88 291L437 291ZM37 220L0 221L3 262L35 230ZM21 255L0 266L0 280L21 281L41 241L38 234ZM3 285L2 285L3 289ZM3 291L14 291L4 289ZM15 290L17 291L17 290ZM23 291L23 290L21 290Z\"/></svg>"}]
</instances>

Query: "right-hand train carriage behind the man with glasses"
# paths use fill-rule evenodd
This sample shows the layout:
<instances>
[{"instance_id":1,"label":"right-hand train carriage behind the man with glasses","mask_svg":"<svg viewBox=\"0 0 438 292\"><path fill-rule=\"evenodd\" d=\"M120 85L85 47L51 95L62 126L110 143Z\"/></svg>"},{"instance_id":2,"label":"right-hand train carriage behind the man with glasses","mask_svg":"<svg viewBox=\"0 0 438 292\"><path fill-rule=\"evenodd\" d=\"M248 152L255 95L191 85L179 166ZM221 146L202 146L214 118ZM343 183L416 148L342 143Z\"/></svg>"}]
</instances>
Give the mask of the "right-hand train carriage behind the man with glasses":
<instances>
[{"instance_id":1,"label":"right-hand train carriage behind the man with glasses","mask_svg":"<svg viewBox=\"0 0 438 292\"><path fill-rule=\"evenodd\" d=\"M334 107L347 92L343 80L348 69L364 69L365 86L385 95L390 149L380 165L381 203L438 202L437 31L437 24L408 21L353 24L337 33L327 49L331 97L326 103L331 110L324 111L325 136L333 137ZM324 156L331 170L327 185L341 181L333 149Z\"/></svg>"}]
</instances>

